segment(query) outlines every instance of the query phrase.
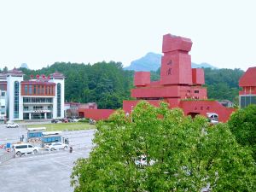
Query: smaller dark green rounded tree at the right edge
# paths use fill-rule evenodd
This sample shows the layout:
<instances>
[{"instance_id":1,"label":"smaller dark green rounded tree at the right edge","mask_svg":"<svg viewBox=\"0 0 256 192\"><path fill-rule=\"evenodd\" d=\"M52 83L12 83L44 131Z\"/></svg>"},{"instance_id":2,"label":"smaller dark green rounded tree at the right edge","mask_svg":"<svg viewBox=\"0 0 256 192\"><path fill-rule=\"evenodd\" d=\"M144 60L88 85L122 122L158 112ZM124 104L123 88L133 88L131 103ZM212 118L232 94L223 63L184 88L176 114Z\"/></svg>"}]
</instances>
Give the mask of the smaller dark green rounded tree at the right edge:
<instances>
[{"instance_id":1,"label":"smaller dark green rounded tree at the right edge","mask_svg":"<svg viewBox=\"0 0 256 192\"><path fill-rule=\"evenodd\" d=\"M233 113L229 120L230 131L242 146L253 150L256 160L256 105L249 105Z\"/></svg>"}]
</instances>

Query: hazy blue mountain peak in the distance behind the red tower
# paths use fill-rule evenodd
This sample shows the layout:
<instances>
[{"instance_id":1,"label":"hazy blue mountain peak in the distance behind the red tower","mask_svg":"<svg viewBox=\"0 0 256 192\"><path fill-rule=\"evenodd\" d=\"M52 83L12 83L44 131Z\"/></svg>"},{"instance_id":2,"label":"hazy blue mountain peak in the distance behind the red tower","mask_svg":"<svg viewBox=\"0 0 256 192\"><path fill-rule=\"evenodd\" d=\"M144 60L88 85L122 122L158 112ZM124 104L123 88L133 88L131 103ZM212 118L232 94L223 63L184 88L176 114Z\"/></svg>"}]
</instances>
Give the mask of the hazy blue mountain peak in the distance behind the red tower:
<instances>
[{"instance_id":1,"label":"hazy blue mountain peak in the distance behind the red tower","mask_svg":"<svg viewBox=\"0 0 256 192\"><path fill-rule=\"evenodd\" d=\"M144 55L142 58L137 59L135 61L131 61L131 65L129 67L124 67L125 70L133 70L136 72L150 72L150 71L156 71L159 69L161 65L161 56L160 54L149 52L148 54ZM201 64L197 64L192 62L191 63L192 68L212 68L216 69L217 67L214 67L207 62L203 62Z\"/></svg>"}]
</instances>

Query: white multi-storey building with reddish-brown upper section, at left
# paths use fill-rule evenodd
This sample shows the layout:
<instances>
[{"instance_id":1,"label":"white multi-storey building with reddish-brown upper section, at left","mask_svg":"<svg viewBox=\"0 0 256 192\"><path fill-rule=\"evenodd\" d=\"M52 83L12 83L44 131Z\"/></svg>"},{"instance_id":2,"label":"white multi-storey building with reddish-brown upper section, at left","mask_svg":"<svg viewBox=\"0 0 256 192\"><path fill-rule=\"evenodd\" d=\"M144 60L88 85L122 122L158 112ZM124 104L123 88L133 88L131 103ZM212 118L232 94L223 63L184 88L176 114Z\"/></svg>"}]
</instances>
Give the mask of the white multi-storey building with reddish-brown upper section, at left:
<instances>
[{"instance_id":1,"label":"white multi-storey building with reddish-brown upper section, at left","mask_svg":"<svg viewBox=\"0 0 256 192\"><path fill-rule=\"evenodd\" d=\"M6 91L6 119L64 118L65 77L61 73L23 78L17 69L0 76L0 88Z\"/></svg>"}]
</instances>

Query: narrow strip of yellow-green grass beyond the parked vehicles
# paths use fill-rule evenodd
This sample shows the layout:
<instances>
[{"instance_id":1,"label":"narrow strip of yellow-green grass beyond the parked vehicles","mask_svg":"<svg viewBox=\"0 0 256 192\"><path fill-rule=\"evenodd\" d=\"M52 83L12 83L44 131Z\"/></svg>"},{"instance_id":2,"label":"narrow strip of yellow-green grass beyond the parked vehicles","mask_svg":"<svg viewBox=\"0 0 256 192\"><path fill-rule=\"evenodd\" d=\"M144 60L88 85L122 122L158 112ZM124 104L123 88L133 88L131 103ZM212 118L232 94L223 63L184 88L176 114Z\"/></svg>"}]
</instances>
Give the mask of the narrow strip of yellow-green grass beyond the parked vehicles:
<instances>
[{"instance_id":1,"label":"narrow strip of yellow-green grass beyond the parked vehicles","mask_svg":"<svg viewBox=\"0 0 256 192\"><path fill-rule=\"evenodd\" d=\"M46 127L46 131L78 131L95 129L95 125L87 123L59 123L59 124L41 124L41 125L27 125L27 128Z\"/></svg>"}]
</instances>

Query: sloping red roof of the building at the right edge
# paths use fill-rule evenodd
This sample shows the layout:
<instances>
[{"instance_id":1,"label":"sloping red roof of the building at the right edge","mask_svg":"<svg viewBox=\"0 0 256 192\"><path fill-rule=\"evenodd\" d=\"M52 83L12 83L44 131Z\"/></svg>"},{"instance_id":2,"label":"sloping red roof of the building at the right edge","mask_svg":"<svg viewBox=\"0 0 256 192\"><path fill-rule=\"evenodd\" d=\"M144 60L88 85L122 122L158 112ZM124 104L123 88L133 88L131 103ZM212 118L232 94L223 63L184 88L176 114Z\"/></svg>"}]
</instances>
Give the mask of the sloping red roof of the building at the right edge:
<instances>
[{"instance_id":1,"label":"sloping red roof of the building at the right edge","mask_svg":"<svg viewBox=\"0 0 256 192\"><path fill-rule=\"evenodd\" d=\"M249 67L239 80L240 87L256 86L256 67Z\"/></svg>"}]
</instances>

